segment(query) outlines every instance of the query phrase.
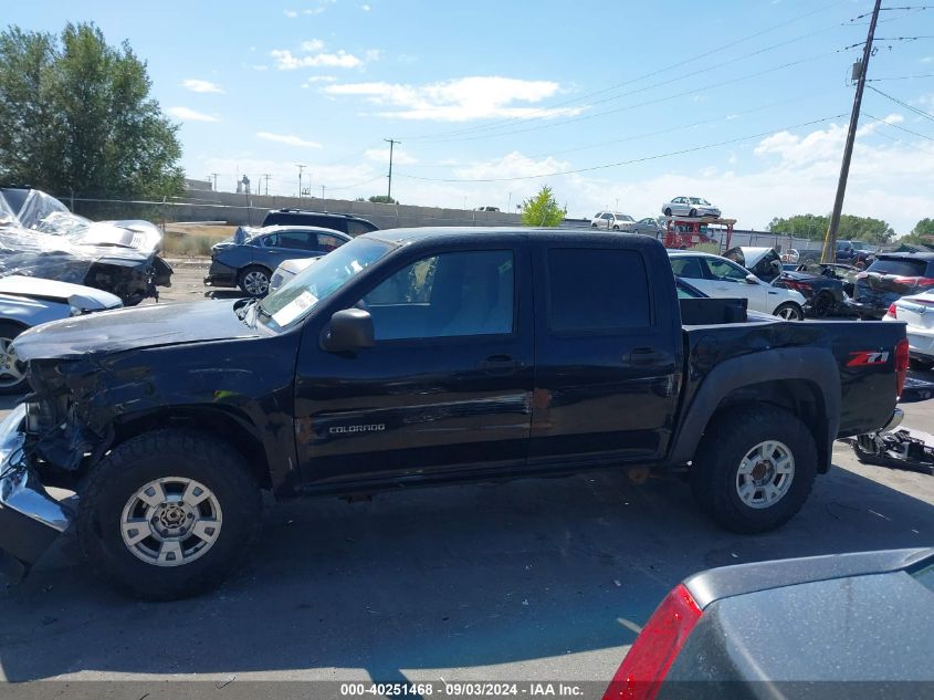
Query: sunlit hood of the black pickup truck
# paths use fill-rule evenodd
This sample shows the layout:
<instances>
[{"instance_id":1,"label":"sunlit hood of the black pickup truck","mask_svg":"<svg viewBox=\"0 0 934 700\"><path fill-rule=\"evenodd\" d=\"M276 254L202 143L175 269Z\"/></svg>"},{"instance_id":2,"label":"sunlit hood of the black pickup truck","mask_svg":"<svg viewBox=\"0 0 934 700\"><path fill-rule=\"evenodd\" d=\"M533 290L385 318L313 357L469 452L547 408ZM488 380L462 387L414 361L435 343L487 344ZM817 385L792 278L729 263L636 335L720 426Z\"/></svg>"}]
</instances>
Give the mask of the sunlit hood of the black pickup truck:
<instances>
[{"instance_id":1,"label":"sunlit hood of the black pickup truck","mask_svg":"<svg viewBox=\"0 0 934 700\"><path fill-rule=\"evenodd\" d=\"M237 316L234 303L159 304L75 316L30 328L13 347L21 362L30 362L265 335Z\"/></svg>"}]
</instances>

